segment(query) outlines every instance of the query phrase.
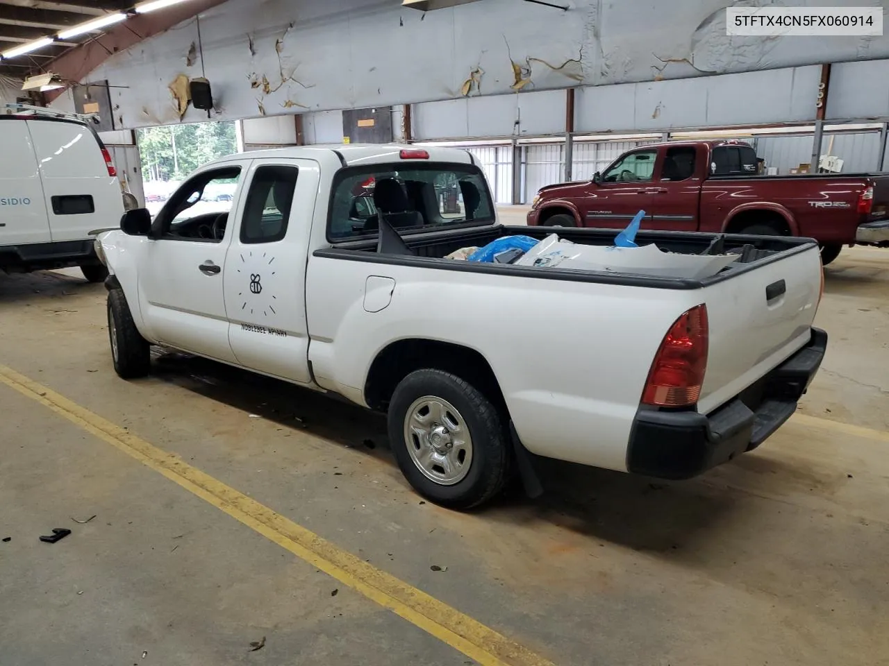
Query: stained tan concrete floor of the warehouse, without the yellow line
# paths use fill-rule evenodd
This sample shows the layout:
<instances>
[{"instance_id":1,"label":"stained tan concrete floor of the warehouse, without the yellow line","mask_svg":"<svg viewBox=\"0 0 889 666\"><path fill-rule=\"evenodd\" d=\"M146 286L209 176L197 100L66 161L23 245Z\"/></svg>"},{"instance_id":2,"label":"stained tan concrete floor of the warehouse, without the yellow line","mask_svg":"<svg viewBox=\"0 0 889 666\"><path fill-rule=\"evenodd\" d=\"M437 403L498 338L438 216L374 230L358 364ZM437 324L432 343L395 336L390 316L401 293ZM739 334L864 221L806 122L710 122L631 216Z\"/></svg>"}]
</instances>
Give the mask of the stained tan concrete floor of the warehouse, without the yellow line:
<instances>
[{"instance_id":1,"label":"stained tan concrete floor of the warehouse, without the yellow line","mask_svg":"<svg viewBox=\"0 0 889 666\"><path fill-rule=\"evenodd\" d=\"M828 267L828 356L757 451L682 483L552 463L472 514L420 503L361 409L179 355L118 379L76 275L0 276L0 364L552 662L889 663L889 250ZM6 385L0 409L3 666L474 663Z\"/></svg>"}]
</instances>

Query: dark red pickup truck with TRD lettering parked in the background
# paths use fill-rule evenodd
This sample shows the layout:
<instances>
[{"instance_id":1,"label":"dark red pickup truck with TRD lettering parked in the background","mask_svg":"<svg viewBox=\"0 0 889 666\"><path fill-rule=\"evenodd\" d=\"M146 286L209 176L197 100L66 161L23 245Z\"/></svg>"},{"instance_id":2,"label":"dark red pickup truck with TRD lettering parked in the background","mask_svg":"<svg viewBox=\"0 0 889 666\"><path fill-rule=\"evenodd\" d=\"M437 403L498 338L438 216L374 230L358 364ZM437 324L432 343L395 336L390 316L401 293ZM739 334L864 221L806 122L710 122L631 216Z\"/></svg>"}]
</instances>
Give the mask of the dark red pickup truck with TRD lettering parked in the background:
<instances>
[{"instance_id":1,"label":"dark red pickup truck with TRD lettering parked in the background","mask_svg":"<svg viewBox=\"0 0 889 666\"><path fill-rule=\"evenodd\" d=\"M638 147L592 180L543 187L528 224L792 235L821 244L823 263L843 245L889 247L889 174L758 175L740 141L671 141Z\"/></svg>"}]
</instances>

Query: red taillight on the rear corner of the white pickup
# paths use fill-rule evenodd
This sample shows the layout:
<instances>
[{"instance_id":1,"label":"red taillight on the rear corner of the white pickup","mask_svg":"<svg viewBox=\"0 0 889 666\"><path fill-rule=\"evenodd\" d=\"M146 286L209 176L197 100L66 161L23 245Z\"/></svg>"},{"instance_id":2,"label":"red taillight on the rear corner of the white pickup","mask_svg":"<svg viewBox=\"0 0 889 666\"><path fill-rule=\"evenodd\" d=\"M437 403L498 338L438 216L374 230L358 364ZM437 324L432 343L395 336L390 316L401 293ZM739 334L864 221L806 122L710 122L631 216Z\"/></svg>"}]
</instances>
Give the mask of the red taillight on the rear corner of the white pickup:
<instances>
[{"instance_id":1,"label":"red taillight on the rear corner of the white pickup","mask_svg":"<svg viewBox=\"0 0 889 666\"><path fill-rule=\"evenodd\" d=\"M655 407L689 407L701 397L707 369L707 305L696 305L664 336L648 373L642 402Z\"/></svg>"}]
</instances>

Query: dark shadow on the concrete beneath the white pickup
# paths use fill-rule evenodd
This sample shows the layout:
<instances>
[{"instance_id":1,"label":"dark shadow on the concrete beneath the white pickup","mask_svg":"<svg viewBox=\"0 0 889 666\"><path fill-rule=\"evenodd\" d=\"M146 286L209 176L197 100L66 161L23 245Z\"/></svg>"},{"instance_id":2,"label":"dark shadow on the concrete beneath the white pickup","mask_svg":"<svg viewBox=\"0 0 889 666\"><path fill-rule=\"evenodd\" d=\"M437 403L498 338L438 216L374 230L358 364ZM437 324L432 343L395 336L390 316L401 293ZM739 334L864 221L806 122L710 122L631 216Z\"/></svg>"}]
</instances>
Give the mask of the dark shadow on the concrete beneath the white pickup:
<instances>
[{"instance_id":1,"label":"dark shadow on the concrete beneath the white pickup","mask_svg":"<svg viewBox=\"0 0 889 666\"><path fill-rule=\"evenodd\" d=\"M156 379L395 465L388 451L384 416L187 354L156 350L154 355L152 376ZM516 481L477 514L483 522L490 519L515 527L543 521L590 542L620 543L675 557L677 549L690 548L698 541L696 535L712 540L714 528L725 526L726 516L750 510L750 496L743 491L725 492L726 486L743 488L750 473L776 487L785 483L789 470L784 464L757 460L751 461L751 468L746 457L721 468L718 483L710 475L670 482L541 458L543 496L529 499ZM722 531L717 529L717 533Z\"/></svg>"}]
</instances>

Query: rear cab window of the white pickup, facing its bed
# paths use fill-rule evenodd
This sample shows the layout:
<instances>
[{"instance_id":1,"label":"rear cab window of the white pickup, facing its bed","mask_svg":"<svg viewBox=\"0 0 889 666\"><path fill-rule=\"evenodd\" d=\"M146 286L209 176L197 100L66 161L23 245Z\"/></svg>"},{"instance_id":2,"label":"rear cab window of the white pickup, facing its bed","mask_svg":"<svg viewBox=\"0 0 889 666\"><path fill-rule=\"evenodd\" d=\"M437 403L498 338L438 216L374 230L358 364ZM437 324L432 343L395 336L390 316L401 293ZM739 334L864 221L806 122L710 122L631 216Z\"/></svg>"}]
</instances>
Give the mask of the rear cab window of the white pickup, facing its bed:
<instances>
[{"instance_id":1,"label":"rear cab window of the white pickup, facing its bed","mask_svg":"<svg viewBox=\"0 0 889 666\"><path fill-rule=\"evenodd\" d=\"M494 206L477 167L391 163L341 170L334 178L329 237L376 234L380 217L396 229L491 224Z\"/></svg>"}]
</instances>

